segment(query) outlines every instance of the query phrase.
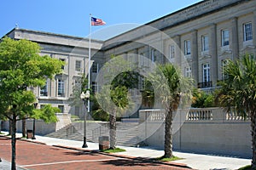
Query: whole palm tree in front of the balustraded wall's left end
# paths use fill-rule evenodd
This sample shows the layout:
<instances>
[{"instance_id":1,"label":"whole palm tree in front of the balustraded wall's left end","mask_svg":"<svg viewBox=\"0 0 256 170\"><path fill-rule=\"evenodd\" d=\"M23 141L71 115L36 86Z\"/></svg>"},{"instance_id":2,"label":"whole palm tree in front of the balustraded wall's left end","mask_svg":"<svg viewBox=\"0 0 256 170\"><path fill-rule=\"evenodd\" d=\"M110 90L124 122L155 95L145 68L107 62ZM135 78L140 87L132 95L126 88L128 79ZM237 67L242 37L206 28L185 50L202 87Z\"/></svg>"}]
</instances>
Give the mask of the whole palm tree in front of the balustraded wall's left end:
<instances>
[{"instance_id":1,"label":"whole palm tree in front of the balustraded wall's left end","mask_svg":"<svg viewBox=\"0 0 256 170\"><path fill-rule=\"evenodd\" d=\"M165 120L165 155L172 157L172 116L179 105L186 104L191 98L192 79L183 77L181 71L172 64L159 65L150 76L154 88L154 99L160 99L166 110Z\"/></svg>"}]
</instances>

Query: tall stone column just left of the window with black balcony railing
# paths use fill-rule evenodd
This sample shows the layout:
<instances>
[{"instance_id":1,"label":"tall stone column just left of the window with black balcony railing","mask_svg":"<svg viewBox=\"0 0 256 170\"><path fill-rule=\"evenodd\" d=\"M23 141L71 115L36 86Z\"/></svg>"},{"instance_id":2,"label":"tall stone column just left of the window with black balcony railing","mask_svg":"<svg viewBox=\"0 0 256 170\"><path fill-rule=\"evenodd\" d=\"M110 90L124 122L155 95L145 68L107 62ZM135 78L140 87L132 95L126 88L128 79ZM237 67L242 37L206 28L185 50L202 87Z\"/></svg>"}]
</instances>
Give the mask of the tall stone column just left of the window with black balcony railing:
<instances>
[{"instance_id":1,"label":"tall stone column just left of the window with black balcony railing","mask_svg":"<svg viewBox=\"0 0 256 170\"><path fill-rule=\"evenodd\" d=\"M199 82L197 30L192 31L191 59L192 59L192 65L191 65L192 77L195 79L195 83L197 84Z\"/></svg>"}]
</instances>

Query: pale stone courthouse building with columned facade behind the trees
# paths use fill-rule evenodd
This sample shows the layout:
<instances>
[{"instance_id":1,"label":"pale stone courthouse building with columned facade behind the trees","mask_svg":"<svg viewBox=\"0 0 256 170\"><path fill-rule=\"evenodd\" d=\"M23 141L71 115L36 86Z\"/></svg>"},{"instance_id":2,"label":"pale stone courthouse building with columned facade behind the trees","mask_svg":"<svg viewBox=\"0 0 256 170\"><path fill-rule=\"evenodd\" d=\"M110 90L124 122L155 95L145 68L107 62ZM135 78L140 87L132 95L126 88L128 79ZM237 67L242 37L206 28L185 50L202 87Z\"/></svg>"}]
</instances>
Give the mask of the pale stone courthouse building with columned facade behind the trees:
<instances>
[{"instance_id":1,"label":"pale stone courthouse building with columned facade behind the trees","mask_svg":"<svg viewBox=\"0 0 256 170\"><path fill-rule=\"evenodd\" d=\"M68 105L68 99L84 71L88 73L89 39L20 28L7 36L38 42L42 55L66 62L61 75L47 80L44 88L34 92L39 105L52 104L63 113L79 115L81 108ZM195 86L211 90L224 79L227 59L255 54L255 50L256 1L205 0L106 41L92 39L90 84L96 91L96 75L111 54L125 55L128 59L131 54L137 54L153 62L176 63L185 77L194 77ZM147 65L140 59L137 61Z\"/></svg>"}]
</instances>

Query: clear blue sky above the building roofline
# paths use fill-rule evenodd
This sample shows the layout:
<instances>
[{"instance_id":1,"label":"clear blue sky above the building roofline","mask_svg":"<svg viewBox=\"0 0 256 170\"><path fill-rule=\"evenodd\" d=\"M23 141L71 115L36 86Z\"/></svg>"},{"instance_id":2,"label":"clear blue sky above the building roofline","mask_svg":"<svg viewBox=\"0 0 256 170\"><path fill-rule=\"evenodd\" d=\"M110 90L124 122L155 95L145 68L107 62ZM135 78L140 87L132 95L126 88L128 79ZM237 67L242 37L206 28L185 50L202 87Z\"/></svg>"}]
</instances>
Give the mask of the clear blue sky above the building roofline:
<instances>
[{"instance_id":1,"label":"clear blue sky above the building roofline","mask_svg":"<svg viewBox=\"0 0 256 170\"><path fill-rule=\"evenodd\" d=\"M92 33L111 28L108 29L111 35L198 2L201 0L1 0L0 37L11 31L15 24L29 30L87 37L90 14L107 22L106 26L93 26ZM104 36L97 39L100 38Z\"/></svg>"}]
</instances>

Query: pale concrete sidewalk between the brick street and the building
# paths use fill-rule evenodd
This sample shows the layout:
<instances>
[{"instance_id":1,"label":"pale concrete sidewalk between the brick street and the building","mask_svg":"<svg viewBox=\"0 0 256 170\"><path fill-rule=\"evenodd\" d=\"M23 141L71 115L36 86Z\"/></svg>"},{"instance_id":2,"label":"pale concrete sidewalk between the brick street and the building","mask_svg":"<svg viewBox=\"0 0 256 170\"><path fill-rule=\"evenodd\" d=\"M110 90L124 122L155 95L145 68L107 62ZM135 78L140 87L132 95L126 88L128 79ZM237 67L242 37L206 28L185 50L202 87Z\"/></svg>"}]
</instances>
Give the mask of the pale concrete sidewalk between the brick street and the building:
<instances>
[{"instance_id":1,"label":"pale concrete sidewalk between the brick street and the building","mask_svg":"<svg viewBox=\"0 0 256 170\"><path fill-rule=\"evenodd\" d=\"M20 137L21 134L17 133L17 137ZM32 140L32 139L28 139ZM83 142L68 140L68 139L54 139L44 136L36 136L36 139L33 139L34 142L40 142L48 145L61 145L70 148L81 149ZM87 142L88 148L86 150L98 150L99 146L97 143ZM152 147L126 147L126 146L117 146L119 148L125 149L125 152L116 153L115 155L122 156L133 156L133 157L160 157L164 155L164 150L157 150ZM239 167L244 167L251 163L250 159L241 159L235 157L224 157L224 156L208 156L201 154L193 153L183 153L183 152L173 152L174 156L183 158L183 160L174 161L177 163L186 164L188 167L194 169L238 169ZM1 164L0 164L1 166Z\"/></svg>"}]
</instances>

